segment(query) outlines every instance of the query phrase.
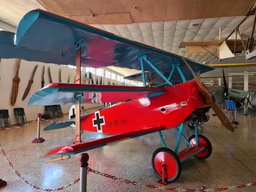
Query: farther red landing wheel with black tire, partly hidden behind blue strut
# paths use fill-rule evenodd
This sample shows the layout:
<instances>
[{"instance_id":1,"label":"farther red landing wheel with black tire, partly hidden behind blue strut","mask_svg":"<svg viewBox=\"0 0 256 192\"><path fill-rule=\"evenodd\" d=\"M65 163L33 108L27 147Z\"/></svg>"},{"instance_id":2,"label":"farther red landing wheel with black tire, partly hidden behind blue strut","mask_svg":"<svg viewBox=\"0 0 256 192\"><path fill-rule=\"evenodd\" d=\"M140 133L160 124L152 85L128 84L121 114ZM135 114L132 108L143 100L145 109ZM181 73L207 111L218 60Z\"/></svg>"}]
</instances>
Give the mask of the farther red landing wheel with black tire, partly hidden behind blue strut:
<instances>
[{"instance_id":1,"label":"farther red landing wheel with black tire, partly hidden behind blue strut","mask_svg":"<svg viewBox=\"0 0 256 192\"><path fill-rule=\"evenodd\" d=\"M191 145L196 145L195 134L193 136L191 136L188 140ZM204 147L205 150L203 150L199 154L196 154L196 156L194 156L194 157L196 157L196 159L207 159L208 157L211 156L212 144L207 138L205 138L205 136L198 134L198 145L200 147Z\"/></svg>"}]
</instances>

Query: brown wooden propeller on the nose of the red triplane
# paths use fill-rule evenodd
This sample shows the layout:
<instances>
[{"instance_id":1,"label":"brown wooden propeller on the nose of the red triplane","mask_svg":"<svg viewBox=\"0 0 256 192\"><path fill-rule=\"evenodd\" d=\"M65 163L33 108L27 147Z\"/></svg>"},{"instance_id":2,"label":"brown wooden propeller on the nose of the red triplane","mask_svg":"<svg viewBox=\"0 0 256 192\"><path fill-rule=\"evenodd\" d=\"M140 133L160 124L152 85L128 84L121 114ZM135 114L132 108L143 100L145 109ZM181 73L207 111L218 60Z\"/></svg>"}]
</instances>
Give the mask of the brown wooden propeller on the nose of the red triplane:
<instances>
[{"instance_id":1,"label":"brown wooden propeller on the nose of the red triplane","mask_svg":"<svg viewBox=\"0 0 256 192\"><path fill-rule=\"evenodd\" d=\"M216 115L218 116L218 118L220 119L221 123L231 132L234 132L236 130L236 127L234 127L231 122L228 120L227 116L225 115L225 113L223 113L223 111L221 110L221 108L218 106L218 104L216 104L216 102L212 99L211 94L208 92L208 90L205 88L204 84L201 83L201 81L198 79L198 77L196 76L195 72L193 71L193 69L190 67L190 65L188 64L188 62L182 58L182 60L184 61L184 63L187 65L187 67L189 68L189 70L191 71L192 75L195 77L196 83L198 84L198 86L200 87L202 93L204 94L205 97L205 103L206 104L211 104L211 108L214 110L214 112L216 113Z\"/></svg>"}]
</instances>

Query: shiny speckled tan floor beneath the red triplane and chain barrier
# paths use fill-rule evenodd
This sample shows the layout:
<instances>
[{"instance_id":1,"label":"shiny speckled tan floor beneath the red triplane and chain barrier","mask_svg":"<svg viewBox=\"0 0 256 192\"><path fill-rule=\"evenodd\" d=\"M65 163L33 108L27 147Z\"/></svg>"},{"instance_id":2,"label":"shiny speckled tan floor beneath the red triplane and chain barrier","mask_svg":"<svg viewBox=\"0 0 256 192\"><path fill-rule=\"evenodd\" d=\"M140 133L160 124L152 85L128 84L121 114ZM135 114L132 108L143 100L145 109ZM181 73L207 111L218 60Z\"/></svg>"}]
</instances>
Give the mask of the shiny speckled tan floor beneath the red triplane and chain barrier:
<instances>
[{"instance_id":1,"label":"shiny speckled tan floor beneath the red triplane and chain barrier","mask_svg":"<svg viewBox=\"0 0 256 192\"><path fill-rule=\"evenodd\" d=\"M171 188L220 188L246 184L256 180L256 131L255 118L238 115L239 129L235 133L227 131L220 124L217 117L211 116L209 122L200 127L200 134L204 134L212 143L212 155L209 159L200 161L190 159L182 164L179 179L168 185ZM42 122L42 127L49 122ZM191 135L192 131L184 130L184 134ZM168 147L174 148L177 132L172 129L163 132ZM79 177L79 154L65 161L44 164L47 158L42 156L52 148L68 145L74 140L74 129L59 129L43 131L44 143L35 144L31 141L36 136L36 122L9 131L0 131L0 143L10 157L22 177L42 188L59 188L69 184ZM83 140L100 137L102 135L84 132ZM180 146L184 147L184 143ZM131 140L113 143L103 148L89 151L89 166L100 172L115 175L124 179L135 180L142 184L157 184L158 178L151 164L154 150L161 147L157 133L141 136ZM24 184L12 172L10 166L0 154L0 179L8 182L0 191L35 191ZM79 184L75 184L65 191L79 191ZM125 184L95 173L88 174L88 191L161 191L142 186ZM256 186L232 191L256 191Z\"/></svg>"}]
</instances>

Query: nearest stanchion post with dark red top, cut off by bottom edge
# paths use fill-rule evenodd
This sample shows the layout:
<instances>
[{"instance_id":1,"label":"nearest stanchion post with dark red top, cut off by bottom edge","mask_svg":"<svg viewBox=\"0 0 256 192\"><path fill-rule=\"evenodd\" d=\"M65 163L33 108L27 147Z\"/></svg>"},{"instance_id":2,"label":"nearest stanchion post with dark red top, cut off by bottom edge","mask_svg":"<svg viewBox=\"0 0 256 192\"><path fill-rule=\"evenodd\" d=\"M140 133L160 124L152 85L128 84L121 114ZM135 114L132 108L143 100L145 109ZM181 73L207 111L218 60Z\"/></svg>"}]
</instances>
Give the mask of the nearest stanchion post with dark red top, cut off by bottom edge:
<instances>
[{"instance_id":1,"label":"nearest stanchion post with dark red top, cut off by bottom edge","mask_svg":"<svg viewBox=\"0 0 256 192\"><path fill-rule=\"evenodd\" d=\"M86 192L88 160L88 154L83 153L80 155L80 192Z\"/></svg>"}]
</instances>

